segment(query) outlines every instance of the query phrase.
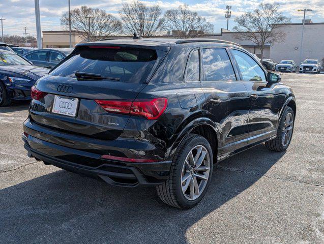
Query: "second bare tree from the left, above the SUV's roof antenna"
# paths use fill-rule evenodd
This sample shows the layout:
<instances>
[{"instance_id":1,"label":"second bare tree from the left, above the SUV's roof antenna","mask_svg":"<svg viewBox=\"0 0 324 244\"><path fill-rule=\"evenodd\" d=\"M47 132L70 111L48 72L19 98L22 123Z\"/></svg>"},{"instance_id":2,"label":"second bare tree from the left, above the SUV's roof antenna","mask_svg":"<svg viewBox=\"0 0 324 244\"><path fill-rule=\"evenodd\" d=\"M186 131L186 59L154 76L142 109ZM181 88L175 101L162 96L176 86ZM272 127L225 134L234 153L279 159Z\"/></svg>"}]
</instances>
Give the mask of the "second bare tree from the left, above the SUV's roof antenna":
<instances>
[{"instance_id":1,"label":"second bare tree from the left, above the SUV's roof antenna","mask_svg":"<svg viewBox=\"0 0 324 244\"><path fill-rule=\"evenodd\" d=\"M126 35L136 33L141 37L149 38L161 31L163 18L158 4L147 7L139 1L134 1L132 4L123 3L119 14L123 22L123 33Z\"/></svg>"}]
</instances>

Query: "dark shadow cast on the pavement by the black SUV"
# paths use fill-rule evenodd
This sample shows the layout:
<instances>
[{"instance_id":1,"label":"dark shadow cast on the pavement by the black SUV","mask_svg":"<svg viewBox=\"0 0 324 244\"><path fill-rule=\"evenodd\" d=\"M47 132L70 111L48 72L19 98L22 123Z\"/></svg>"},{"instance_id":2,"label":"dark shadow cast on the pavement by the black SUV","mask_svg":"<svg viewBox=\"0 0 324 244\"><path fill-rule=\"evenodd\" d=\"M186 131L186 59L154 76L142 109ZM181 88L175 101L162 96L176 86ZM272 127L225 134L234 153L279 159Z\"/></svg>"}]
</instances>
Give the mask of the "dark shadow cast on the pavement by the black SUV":
<instances>
[{"instance_id":1,"label":"dark shadow cast on the pavement by the black SUV","mask_svg":"<svg viewBox=\"0 0 324 244\"><path fill-rule=\"evenodd\" d=\"M252 186L283 155L259 145L219 163L204 199L189 210L163 204L155 188L117 188L56 171L0 191L0 239L3 243L186 243L192 225Z\"/></svg>"}]
</instances>

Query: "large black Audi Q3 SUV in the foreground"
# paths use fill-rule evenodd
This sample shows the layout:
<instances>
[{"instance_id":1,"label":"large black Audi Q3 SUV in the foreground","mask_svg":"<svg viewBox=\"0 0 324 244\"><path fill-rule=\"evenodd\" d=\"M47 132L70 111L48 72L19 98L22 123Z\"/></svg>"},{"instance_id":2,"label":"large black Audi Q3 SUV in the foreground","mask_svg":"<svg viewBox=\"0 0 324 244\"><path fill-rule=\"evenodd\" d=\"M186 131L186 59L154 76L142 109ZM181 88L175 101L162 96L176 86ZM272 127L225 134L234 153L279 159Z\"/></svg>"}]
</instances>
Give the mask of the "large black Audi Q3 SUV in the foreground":
<instances>
[{"instance_id":1,"label":"large black Audi Q3 SUV in the foreground","mask_svg":"<svg viewBox=\"0 0 324 244\"><path fill-rule=\"evenodd\" d=\"M296 103L280 76L219 40L79 44L32 88L28 156L124 187L156 185L190 208L213 164L266 142L289 146Z\"/></svg>"}]
</instances>

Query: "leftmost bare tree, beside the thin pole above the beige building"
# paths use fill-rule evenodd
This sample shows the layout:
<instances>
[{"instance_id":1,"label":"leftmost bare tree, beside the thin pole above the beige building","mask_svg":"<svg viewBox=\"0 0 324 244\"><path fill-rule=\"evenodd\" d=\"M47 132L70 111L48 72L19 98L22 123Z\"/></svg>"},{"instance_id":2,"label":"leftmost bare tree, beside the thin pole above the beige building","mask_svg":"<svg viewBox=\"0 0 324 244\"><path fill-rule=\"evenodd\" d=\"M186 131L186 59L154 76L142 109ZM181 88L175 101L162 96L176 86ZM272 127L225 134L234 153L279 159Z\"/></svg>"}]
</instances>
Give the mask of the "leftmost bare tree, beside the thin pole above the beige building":
<instances>
[{"instance_id":1,"label":"leftmost bare tree, beside the thin pole above the beige building","mask_svg":"<svg viewBox=\"0 0 324 244\"><path fill-rule=\"evenodd\" d=\"M62 15L61 25L69 28L69 12ZM87 41L98 41L121 33L122 23L104 10L82 6L71 11L71 28Z\"/></svg>"}]
</instances>

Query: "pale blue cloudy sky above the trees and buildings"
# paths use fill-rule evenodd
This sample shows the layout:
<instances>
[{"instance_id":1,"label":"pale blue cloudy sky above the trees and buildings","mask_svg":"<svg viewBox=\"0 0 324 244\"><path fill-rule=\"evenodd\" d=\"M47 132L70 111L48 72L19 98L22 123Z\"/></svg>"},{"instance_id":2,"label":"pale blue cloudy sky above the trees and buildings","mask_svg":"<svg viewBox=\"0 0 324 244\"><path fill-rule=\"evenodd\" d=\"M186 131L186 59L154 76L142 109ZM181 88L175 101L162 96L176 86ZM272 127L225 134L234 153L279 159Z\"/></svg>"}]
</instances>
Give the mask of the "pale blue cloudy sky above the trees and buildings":
<instances>
[{"instance_id":1,"label":"pale blue cloudy sky above the trees and buildings","mask_svg":"<svg viewBox=\"0 0 324 244\"><path fill-rule=\"evenodd\" d=\"M314 11L307 12L306 18L311 18L313 22L324 22L324 0L278 0L281 5L280 9L283 14L291 18L292 23L301 22L303 18L302 12L298 9L311 8ZM118 10L123 2L132 2L132 0L71 0L72 9L87 5L94 8L106 10L118 17ZM261 2L273 2L270 0L231 0L231 1L141 1L147 5L158 3L163 12L168 9L178 8L183 3L189 4L190 10L197 11L200 16L205 17L214 24L214 33L219 33L220 28L226 28L225 7L232 6L232 17L229 22L229 29L235 23L234 17L242 15L246 11L253 10ZM58 31L62 27L60 25L61 15L68 10L68 0L40 0L41 12L41 28L42 31ZM0 18L4 18L4 34L22 35L23 26L28 28L28 33L36 36L35 26L35 9L33 0L1 0L0 1Z\"/></svg>"}]
</instances>

